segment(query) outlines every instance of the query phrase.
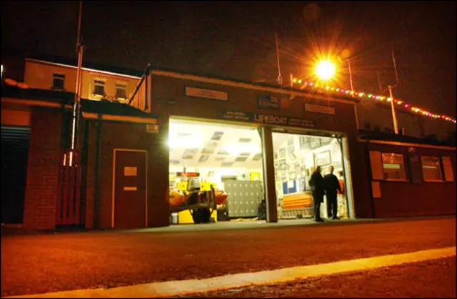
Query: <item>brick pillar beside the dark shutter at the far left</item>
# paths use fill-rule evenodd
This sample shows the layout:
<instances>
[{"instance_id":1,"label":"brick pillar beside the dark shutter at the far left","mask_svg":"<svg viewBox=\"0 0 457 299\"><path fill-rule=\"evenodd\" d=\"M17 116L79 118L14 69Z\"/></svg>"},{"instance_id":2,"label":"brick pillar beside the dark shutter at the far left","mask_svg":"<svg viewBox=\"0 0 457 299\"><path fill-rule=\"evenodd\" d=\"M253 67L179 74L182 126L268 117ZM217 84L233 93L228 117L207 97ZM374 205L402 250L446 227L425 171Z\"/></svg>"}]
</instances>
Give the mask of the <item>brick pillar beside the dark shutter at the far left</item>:
<instances>
[{"instance_id":1,"label":"brick pillar beside the dark shutter at the far left","mask_svg":"<svg viewBox=\"0 0 457 299\"><path fill-rule=\"evenodd\" d=\"M24 227L54 229L61 150L61 111L34 108L31 113Z\"/></svg>"}]
</instances>

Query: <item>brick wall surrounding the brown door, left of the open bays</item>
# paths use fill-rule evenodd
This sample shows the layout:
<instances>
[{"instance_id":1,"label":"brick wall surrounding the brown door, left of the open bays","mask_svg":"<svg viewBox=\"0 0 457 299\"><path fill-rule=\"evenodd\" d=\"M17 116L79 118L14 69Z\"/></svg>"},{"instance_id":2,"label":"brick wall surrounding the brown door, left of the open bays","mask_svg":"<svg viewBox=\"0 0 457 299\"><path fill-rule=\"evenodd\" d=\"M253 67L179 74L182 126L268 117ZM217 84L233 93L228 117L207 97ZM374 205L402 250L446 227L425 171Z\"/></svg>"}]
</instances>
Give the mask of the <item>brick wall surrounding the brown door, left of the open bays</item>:
<instances>
[{"instance_id":1,"label":"brick wall surrounding the brown door, left of the open bays","mask_svg":"<svg viewBox=\"0 0 457 299\"><path fill-rule=\"evenodd\" d=\"M100 177L96 183L96 122L89 121L86 166L86 228L111 228L113 202L113 155L115 148L148 151L148 225L169 225L168 189L169 151L160 146L159 136L139 123L101 122ZM168 131L165 131L168 132ZM95 191L99 190L96 202ZM98 211L96 206L98 205Z\"/></svg>"}]
</instances>

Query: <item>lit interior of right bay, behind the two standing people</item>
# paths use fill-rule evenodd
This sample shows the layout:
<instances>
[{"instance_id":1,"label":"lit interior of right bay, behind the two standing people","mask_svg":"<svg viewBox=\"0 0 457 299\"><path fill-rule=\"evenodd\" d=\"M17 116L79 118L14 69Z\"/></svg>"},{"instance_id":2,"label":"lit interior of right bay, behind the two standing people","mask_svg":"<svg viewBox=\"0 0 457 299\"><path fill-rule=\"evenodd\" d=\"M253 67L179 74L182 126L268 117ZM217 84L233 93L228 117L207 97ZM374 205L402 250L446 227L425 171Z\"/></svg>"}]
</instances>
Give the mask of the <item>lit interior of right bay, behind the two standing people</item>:
<instances>
[{"instance_id":1,"label":"lit interior of right bay, behind the two standing people","mask_svg":"<svg viewBox=\"0 0 457 299\"><path fill-rule=\"evenodd\" d=\"M316 166L321 166L322 176L328 173L329 166L333 166L333 174L344 186L340 138L273 133L273 151L278 219L313 217L308 181ZM321 217L327 218L325 197ZM344 193L338 195L338 217L348 217Z\"/></svg>"}]
</instances>

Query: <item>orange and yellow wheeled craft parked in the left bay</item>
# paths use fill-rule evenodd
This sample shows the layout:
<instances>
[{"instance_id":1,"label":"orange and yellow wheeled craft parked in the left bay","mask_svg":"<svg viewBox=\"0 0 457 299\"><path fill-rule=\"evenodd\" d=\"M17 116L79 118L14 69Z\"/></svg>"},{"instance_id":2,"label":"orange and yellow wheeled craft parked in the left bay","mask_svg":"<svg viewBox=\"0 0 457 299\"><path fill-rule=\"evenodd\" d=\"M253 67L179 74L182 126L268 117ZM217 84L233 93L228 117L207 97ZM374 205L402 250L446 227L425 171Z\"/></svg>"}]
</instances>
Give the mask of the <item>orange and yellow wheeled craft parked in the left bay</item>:
<instances>
[{"instance_id":1,"label":"orange and yellow wheeled craft parked in the left bay","mask_svg":"<svg viewBox=\"0 0 457 299\"><path fill-rule=\"evenodd\" d=\"M170 188L170 213L189 210L194 223L209 223L213 211L224 207L227 194L212 184L204 186L196 178L189 178L183 183L186 183L185 190Z\"/></svg>"}]
</instances>

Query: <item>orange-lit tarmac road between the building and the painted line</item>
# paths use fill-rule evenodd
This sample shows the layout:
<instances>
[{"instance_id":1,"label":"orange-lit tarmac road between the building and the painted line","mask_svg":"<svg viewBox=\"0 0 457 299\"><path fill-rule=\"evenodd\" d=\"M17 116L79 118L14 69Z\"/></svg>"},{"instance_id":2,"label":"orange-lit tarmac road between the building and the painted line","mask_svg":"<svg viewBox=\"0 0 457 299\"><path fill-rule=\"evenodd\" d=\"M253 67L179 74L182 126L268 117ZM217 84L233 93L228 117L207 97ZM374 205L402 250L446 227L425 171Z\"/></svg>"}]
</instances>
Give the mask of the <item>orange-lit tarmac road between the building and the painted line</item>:
<instances>
[{"instance_id":1,"label":"orange-lit tarmac road between the building and the painted line","mask_svg":"<svg viewBox=\"0 0 457 299\"><path fill-rule=\"evenodd\" d=\"M455 245L455 217L238 230L2 235L1 296L210 278Z\"/></svg>"}]
</instances>

